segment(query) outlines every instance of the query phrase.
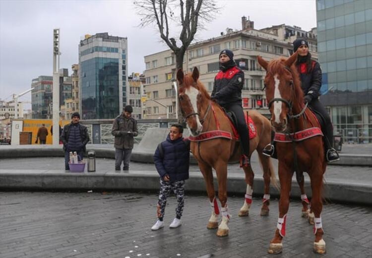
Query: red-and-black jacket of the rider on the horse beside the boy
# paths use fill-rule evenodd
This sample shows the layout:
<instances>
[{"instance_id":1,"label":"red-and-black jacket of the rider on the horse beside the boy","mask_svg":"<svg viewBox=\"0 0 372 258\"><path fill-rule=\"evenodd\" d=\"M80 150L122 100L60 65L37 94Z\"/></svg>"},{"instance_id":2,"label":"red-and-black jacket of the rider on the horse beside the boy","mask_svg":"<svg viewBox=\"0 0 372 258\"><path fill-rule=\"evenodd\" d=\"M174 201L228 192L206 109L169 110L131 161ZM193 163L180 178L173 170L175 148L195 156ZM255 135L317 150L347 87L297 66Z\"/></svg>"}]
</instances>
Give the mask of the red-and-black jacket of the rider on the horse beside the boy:
<instances>
[{"instance_id":1,"label":"red-and-black jacket of the rider on the horse beside the boy","mask_svg":"<svg viewBox=\"0 0 372 258\"><path fill-rule=\"evenodd\" d=\"M214 87L211 98L220 105L238 103L242 104L242 89L244 85L244 72L234 66L225 72L219 71L214 78Z\"/></svg>"}]
</instances>

